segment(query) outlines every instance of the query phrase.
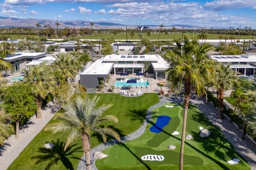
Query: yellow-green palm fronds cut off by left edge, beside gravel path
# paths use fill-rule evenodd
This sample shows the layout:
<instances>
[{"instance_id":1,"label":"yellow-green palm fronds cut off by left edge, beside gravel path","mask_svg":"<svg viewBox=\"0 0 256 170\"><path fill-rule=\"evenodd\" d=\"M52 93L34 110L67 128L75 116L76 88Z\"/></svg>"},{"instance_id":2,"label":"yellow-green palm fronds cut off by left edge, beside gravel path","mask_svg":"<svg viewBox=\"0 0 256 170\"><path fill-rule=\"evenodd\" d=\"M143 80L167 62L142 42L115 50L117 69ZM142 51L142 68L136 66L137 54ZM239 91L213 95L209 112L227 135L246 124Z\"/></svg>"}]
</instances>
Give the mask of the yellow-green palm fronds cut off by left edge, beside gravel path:
<instances>
[{"instance_id":1,"label":"yellow-green palm fronds cut off by left edge, beside gravel path","mask_svg":"<svg viewBox=\"0 0 256 170\"><path fill-rule=\"evenodd\" d=\"M11 121L11 115L0 110L0 146L4 145L4 140L10 137L13 132Z\"/></svg>"}]
</instances>

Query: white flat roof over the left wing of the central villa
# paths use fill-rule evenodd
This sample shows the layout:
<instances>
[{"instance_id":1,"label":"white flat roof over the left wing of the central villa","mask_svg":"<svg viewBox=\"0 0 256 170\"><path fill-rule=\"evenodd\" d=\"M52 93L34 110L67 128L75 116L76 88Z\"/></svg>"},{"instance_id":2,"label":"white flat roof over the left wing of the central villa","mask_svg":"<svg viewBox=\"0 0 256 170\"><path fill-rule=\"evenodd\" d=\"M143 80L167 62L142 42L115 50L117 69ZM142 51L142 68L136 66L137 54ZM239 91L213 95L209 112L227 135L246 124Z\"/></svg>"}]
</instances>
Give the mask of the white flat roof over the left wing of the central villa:
<instances>
[{"instance_id":1,"label":"white flat roof over the left wing of the central villa","mask_svg":"<svg viewBox=\"0 0 256 170\"><path fill-rule=\"evenodd\" d=\"M85 71L83 71L81 74L91 74L91 75L97 75L97 74L103 74L108 75L112 68L114 63L103 63L102 59L98 59L95 62L92 63Z\"/></svg>"}]
</instances>

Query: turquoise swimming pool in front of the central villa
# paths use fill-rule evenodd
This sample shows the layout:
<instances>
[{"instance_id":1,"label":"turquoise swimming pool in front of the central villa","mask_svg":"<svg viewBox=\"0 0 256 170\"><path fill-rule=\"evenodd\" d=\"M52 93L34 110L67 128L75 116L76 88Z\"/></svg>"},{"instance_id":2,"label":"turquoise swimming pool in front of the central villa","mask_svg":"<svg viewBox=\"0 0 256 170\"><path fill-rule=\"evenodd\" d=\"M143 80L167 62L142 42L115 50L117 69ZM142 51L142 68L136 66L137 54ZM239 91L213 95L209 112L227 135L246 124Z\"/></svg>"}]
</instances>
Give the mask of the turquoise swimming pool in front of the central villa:
<instances>
[{"instance_id":1,"label":"turquoise swimming pool in front of the central villa","mask_svg":"<svg viewBox=\"0 0 256 170\"><path fill-rule=\"evenodd\" d=\"M119 78L119 79L116 79L116 82L115 82L115 86L116 87L119 87L119 86L135 86L135 87L142 87L142 86L145 86L147 87L149 85L148 83L148 80L143 80L142 78Z\"/></svg>"}]
</instances>

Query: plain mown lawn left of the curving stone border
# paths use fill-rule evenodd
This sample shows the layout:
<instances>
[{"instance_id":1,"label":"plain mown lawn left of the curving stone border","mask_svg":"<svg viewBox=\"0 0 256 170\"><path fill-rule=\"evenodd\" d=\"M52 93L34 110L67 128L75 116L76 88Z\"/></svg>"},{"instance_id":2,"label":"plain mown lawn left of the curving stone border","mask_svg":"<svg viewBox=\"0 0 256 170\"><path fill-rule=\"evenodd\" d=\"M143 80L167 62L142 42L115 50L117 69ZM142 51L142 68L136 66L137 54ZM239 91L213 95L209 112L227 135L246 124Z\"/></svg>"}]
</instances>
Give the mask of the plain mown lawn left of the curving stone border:
<instances>
[{"instance_id":1,"label":"plain mown lawn left of the curving stone border","mask_svg":"<svg viewBox=\"0 0 256 170\"><path fill-rule=\"evenodd\" d=\"M95 94L88 95L93 96ZM99 105L113 104L113 106L103 113L103 115L113 114L118 117L119 122L113 124L113 128L118 130L122 135L127 135L137 130L143 122L143 119L137 119L131 116L132 113L145 115L150 106L159 102L156 94L143 94L140 97L130 98L123 97L119 94L97 94L97 96L100 96ZM56 161L57 164L53 162L53 165L50 166L51 169L67 169L66 167L70 166L76 169L79 163L79 158L83 155L81 141L78 138L74 143L75 146L71 147L66 152L63 152L63 144L66 141L66 137L67 134L65 133L52 134L51 132L41 131L21 152L19 157L14 160L8 169L45 169L51 161L53 162L53 157L56 155L60 155L57 156L59 159L56 159L59 161ZM58 139L60 140L59 142L57 141ZM55 149L50 152L43 147L45 143L51 141L56 145ZM101 140L98 136L91 137L92 147L98 146L100 143ZM36 158L36 156L42 157ZM42 162L36 164L38 160L42 160ZM65 163L65 165L63 165L62 162Z\"/></svg>"}]
</instances>

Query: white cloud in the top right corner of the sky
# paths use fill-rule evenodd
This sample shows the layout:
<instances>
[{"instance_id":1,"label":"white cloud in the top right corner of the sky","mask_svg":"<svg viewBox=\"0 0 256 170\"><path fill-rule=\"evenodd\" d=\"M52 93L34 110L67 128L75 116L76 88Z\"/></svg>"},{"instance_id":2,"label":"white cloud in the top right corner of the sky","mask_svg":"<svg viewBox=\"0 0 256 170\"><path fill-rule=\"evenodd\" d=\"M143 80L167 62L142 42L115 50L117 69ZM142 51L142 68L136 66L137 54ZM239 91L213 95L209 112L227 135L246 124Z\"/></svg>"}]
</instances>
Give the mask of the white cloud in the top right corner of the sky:
<instances>
[{"instance_id":1,"label":"white cloud in the top right corner of the sky","mask_svg":"<svg viewBox=\"0 0 256 170\"><path fill-rule=\"evenodd\" d=\"M223 11L234 8L244 8L251 7L253 8L256 5L255 0L215 0L211 2L206 2L204 6L215 11Z\"/></svg>"}]
</instances>

